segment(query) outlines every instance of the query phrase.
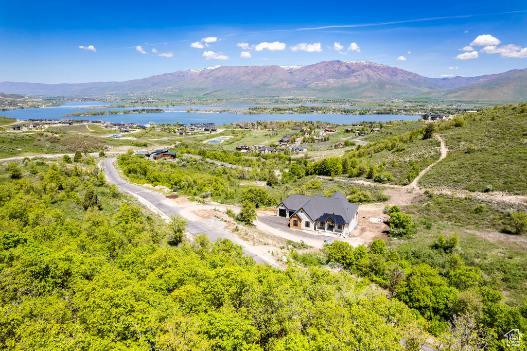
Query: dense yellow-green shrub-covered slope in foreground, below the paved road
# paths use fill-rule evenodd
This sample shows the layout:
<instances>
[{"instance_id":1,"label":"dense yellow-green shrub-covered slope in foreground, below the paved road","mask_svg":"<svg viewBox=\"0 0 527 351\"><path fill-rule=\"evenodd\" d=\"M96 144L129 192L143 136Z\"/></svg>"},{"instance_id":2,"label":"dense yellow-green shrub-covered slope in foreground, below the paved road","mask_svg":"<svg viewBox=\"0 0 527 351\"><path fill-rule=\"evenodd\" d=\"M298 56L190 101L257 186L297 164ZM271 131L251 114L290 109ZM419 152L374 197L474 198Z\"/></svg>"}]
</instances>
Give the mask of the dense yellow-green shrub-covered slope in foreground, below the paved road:
<instances>
[{"instance_id":1,"label":"dense yellow-green shrub-covered slope in foreground, below the paved road","mask_svg":"<svg viewBox=\"0 0 527 351\"><path fill-rule=\"evenodd\" d=\"M205 235L168 245L171 227L95 167L15 167L0 171L2 349L397 350L427 336L348 272L256 265Z\"/></svg>"}]
</instances>

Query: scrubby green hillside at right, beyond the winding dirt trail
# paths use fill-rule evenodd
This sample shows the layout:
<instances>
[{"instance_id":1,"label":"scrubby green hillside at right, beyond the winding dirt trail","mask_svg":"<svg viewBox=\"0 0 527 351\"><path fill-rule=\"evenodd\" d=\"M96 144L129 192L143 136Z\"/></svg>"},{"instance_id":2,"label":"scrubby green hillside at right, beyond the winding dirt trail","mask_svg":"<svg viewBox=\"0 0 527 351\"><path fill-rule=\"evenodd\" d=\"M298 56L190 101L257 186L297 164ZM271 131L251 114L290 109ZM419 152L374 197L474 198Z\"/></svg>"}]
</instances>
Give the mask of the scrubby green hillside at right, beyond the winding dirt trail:
<instances>
[{"instance_id":1,"label":"scrubby green hillside at right, beyond the winding dirt trail","mask_svg":"<svg viewBox=\"0 0 527 351\"><path fill-rule=\"evenodd\" d=\"M463 116L463 126L456 127L452 121L438 124L450 151L419 185L527 193L527 105Z\"/></svg>"}]
</instances>

